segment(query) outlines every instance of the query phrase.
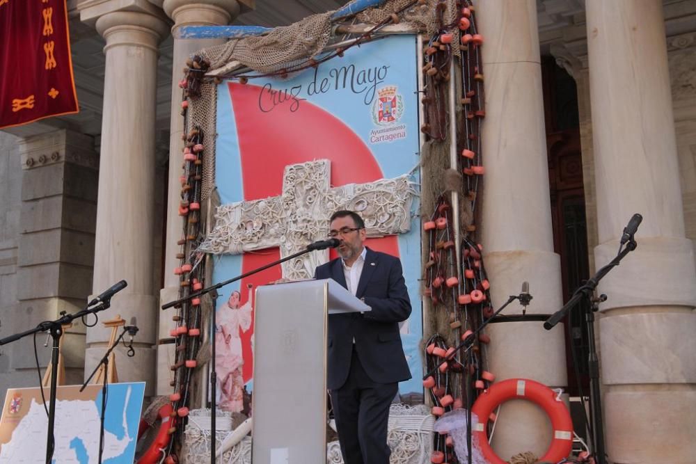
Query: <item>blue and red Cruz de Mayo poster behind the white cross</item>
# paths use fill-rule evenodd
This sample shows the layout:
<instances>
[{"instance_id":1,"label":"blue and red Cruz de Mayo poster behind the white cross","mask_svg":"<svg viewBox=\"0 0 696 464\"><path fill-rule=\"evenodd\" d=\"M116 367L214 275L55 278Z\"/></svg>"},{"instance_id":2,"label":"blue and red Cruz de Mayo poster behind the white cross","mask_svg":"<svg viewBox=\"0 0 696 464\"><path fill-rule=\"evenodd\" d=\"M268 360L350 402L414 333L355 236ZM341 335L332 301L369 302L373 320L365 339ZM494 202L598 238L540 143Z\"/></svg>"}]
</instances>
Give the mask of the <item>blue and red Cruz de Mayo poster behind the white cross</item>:
<instances>
[{"instance_id":1,"label":"blue and red Cruz de Mayo poster behind the white cross","mask_svg":"<svg viewBox=\"0 0 696 464\"><path fill-rule=\"evenodd\" d=\"M416 65L416 36L394 35L352 47L341 58L285 79L221 83L216 139L216 187L221 203L277 197L285 166L313 160L330 162L331 188L369 184L409 173L414 173L412 179L417 184ZM287 207L292 209L293 205ZM418 208L417 202L413 208ZM318 214L328 219L332 212ZM277 241L270 244L271 248L216 259L214 281L279 259L276 247L283 246L283 237ZM367 246L402 260L413 306L411 318L402 324L402 340L413 379L402 383L400 392L421 394L420 221L412 216L409 232L368 239ZM335 256L332 250L331 258ZM235 390L242 378L244 383L251 380L253 292L249 289L280 277L280 266L275 266L235 282L237 287L233 284L221 289L219 319L230 321L227 326L219 326L216 335L226 343L221 355L228 362L218 362L223 391ZM239 372L230 369L242 359L240 378ZM232 394L232 399L223 398L222 403L238 400L237 394Z\"/></svg>"}]
</instances>

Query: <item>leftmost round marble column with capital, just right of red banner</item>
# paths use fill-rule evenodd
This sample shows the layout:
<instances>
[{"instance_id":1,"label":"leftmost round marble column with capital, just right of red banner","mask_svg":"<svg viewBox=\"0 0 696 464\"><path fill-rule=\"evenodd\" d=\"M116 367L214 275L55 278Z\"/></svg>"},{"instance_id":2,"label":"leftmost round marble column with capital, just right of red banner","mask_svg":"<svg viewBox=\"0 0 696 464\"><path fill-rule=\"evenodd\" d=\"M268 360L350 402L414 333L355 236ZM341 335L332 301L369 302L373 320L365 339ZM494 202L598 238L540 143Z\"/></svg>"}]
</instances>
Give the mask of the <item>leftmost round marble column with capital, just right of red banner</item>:
<instances>
[{"instance_id":1,"label":"leftmost round marble column with capital, just right of red banner","mask_svg":"<svg viewBox=\"0 0 696 464\"><path fill-rule=\"evenodd\" d=\"M106 40L93 292L99 294L122 279L128 282L100 320L116 314L126 321L137 318L136 355L126 358L125 350L118 349L118 378L147 382L145 394L150 396L155 392L157 344L152 282L157 45L168 33L168 23L151 5L148 11L104 10L110 5L103 2L92 5L81 10L81 19L95 20ZM104 355L110 333L101 323L87 330L86 375Z\"/></svg>"}]
</instances>

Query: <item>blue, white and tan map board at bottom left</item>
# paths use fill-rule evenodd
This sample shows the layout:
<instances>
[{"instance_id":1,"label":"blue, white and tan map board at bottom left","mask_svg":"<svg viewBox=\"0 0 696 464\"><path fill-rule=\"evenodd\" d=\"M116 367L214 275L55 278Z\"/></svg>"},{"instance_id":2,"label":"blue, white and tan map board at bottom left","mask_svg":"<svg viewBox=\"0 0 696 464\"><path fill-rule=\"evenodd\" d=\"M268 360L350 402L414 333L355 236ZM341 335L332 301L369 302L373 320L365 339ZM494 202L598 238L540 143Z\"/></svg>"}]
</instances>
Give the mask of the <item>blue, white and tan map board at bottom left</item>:
<instances>
[{"instance_id":1,"label":"blue, white and tan map board at bottom left","mask_svg":"<svg viewBox=\"0 0 696 464\"><path fill-rule=\"evenodd\" d=\"M58 387L53 462L98 462L102 385ZM44 388L48 407L49 388ZM106 390L104 464L132 464L145 383L113 383ZM43 464L48 417L39 388L10 388L0 419L0 464Z\"/></svg>"}]
</instances>

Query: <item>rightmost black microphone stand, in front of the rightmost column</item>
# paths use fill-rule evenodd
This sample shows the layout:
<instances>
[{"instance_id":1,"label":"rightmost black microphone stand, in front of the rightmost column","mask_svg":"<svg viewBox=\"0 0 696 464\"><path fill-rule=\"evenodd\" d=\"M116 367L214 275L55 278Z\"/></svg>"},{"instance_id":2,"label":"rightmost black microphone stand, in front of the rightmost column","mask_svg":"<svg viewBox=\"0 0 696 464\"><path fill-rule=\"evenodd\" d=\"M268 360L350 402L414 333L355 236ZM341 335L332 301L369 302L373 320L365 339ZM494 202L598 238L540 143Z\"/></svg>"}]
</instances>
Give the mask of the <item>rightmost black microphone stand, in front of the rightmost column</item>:
<instances>
[{"instance_id":1,"label":"rightmost black microphone stand, in front of the rightmost column","mask_svg":"<svg viewBox=\"0 0 696 464\"><path fill-rule=\"evenodd\" d=\"M585 285L579 287L571 299L560 310L551 315L544 322L544 328L551 330L572 310L583 298L590 302L590 310L585 314L587 323L587 337L590 339L590 353L587 359L587 367L590 374L590 406L592 412L592 431L594 441L594 451L597 464L607 464L606 451L604 446L604 426L602 422L601 392L599 390L599 357L597 356L596 344L594 342L594 313L599 310L599 303L606 300L606 295L602 294L599 298L594 298L594 291L599 281L612 269L619 265L622 259L635 250L638 246L633 239L633 235L628 239L626 248L611 260L609 264L599 269Z\"/></svg>"}]
</instances>

